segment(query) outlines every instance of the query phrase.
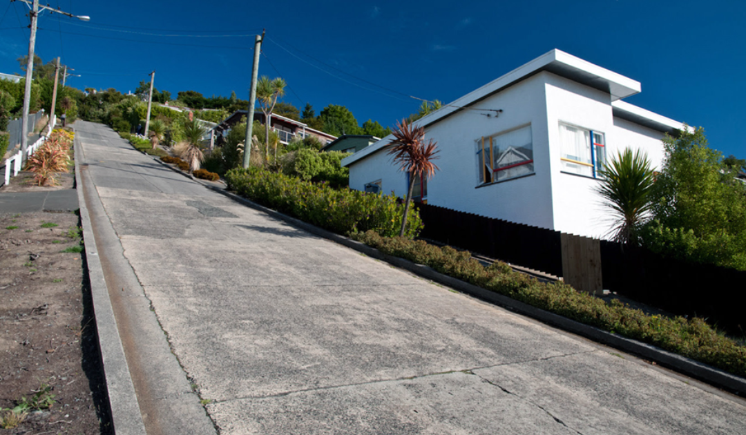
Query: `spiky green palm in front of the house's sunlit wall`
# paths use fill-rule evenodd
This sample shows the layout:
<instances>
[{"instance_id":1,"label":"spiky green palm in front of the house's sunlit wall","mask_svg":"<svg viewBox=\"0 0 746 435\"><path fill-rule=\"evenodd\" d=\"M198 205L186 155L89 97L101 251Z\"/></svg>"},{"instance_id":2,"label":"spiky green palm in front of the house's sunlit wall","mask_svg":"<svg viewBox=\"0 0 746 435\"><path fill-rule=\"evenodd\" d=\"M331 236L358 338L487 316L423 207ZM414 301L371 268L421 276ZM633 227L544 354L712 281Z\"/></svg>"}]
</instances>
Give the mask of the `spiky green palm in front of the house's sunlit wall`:
<instances>
[{"instance_id":1,"label":"spiky green palm in front of the house's sunlit wall","mask_svg":"<svg viewBox=\"0 0 746 435\"><path fill-rule=\"evenodd\" d=\"M604 178L598 193L604 198L604 205L615 214L609 234L617 242L632 242L651 210L650 194L655 176L647 154L640 150L633 154L627 148L612 157L598 175Z\"/></svg>"}]
</instances>

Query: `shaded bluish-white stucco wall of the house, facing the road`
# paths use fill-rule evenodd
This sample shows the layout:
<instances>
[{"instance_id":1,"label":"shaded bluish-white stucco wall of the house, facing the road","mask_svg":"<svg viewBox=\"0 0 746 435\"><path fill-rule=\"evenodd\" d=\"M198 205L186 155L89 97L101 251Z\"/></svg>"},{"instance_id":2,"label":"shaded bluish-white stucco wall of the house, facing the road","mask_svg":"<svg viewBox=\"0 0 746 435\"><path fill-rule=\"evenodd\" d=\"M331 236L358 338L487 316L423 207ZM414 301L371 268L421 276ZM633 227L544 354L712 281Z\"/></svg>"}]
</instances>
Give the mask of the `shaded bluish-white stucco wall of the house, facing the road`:
<instances>
[{"instance_id":1,"label":"shaded bluish-white stucco wall of the house, facing the road","mask_svg":"<svg viewBox=\"0 0 746 435\"><path fill-rule=\"evenodd\" d=\"M502 109L495 118L478 110L462 110L425 128L425 138L438 144L440 170L427 185L427 203L483 216L551 228L549 154L546 131L545 88L540 73L486 98L474 107ZM534 175L478 187L476 141L503 131L530 125ZM406 195L406 178L379 151L350 166L350 187L364 190L380 179L383 193Z\"/></svg>"}]
</instances>

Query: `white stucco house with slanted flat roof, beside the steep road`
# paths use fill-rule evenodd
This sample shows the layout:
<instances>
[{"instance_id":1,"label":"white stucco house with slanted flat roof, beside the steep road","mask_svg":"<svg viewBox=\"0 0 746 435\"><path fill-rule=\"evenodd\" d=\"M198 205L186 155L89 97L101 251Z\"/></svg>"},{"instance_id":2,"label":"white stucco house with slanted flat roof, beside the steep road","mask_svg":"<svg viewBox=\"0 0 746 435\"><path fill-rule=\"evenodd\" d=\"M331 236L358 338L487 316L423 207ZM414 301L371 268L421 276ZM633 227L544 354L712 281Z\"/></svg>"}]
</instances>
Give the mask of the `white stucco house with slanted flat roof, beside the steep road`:
<instances>
[{"instance_id":1,"label":"white stucco house with slanted flat roof, beside the steep road","mask_svg":"<svg viewBox=\"0 0 746 435\"><path fill-rule=\"evenodd\" d=\"M416 122L438 143L439 172L415 196L441 207L603 237L609 211L595 193L598 169L624 148L653 166L665 133L683 128L622 98L640 83L554 49ZM407 194L392 163L392 136L342 160L355 190Z\"/></svg>"}]
</instances>

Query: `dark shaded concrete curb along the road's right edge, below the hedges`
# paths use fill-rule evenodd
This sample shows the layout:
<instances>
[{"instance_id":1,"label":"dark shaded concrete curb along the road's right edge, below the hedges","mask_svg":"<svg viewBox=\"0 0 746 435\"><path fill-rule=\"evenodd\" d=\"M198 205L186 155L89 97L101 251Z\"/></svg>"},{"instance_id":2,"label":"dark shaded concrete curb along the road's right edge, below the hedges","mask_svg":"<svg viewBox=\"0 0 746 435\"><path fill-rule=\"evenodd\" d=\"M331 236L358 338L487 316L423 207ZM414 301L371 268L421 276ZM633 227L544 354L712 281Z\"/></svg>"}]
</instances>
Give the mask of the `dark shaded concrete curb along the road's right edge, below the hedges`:
<instances>
[{"instance_id":1,"label":"dark shaded concrete curb along the road's right edge, below the hedges","mask_svg":"<svg viewBox=\"0 0 746 435\"><path fill-rule=\"evenodd\" d=\"M369 257L386 261L387 263L390 263L401 269L406 269L416 275L421 276L422 278L427 278L431 281L444 284L454 290L458 290L460 292L479 298L483 301L488 301L492 304L504 307L507 310L513 311L514 313L539 320L539 322L552 325L556 328L562 329L563 331L568 331L581 337L592 339L595 342L609 345L612 348L617 348L629 354L638 355L639 357L645 358L646 360L654 361L659 366L673 369L676 372L679 372L691 378L698 379L700 381L704 381L714 387L733 392L736 395L746 396L746 379L739 378L736 375L731 375L730 373L724 372L721 369L716 369L715 367L708 366L705 363L700 363L690 358L682 357L678 354L665 351L653 345L648 345L633 339L621 337L616 334L612 334L610 332L595 328L593 326L584 325L583 323L577 322L575 320L571 320L566 317L550 313L536 307L532 307L529 304L524 304L521 301L516 301L515 299L508 298L505 295L485 290L481 287L475 286L474 284L468 284L464 281L461 281L457 278L452 278L448 275L443 275L442 273L436 272L434 269L431 269L428 266L416 264L411 262L410 260L404 260L403 258L392 257L391 255L383 254L376 248L372 248L361 242L351 240L348 237L334 234L330 231L326 231L322 228L316 227L315 225L310 225L307 222L302 222L301 220L287 216L283 213L279 213L278 211L263 207L260 204L256 204L253 201L249 201L246 198L242 198L239 195L230 193L219 187L213 187L204 183L203 185L209 189L215 190L216 192L222 193L223 195L228 196L228 198L231 198L234 201L237 201L248 207L263 211L270 216L273 216L277 219L282 219L283 221L288 222L291 225L294 225L312 234L316 234L319 237L324 237L325 239L332 240L333 242L337 242L341 245L347 246L348 248L352 248L356 251L362 252Z\"/></svg>"}]
</instances>

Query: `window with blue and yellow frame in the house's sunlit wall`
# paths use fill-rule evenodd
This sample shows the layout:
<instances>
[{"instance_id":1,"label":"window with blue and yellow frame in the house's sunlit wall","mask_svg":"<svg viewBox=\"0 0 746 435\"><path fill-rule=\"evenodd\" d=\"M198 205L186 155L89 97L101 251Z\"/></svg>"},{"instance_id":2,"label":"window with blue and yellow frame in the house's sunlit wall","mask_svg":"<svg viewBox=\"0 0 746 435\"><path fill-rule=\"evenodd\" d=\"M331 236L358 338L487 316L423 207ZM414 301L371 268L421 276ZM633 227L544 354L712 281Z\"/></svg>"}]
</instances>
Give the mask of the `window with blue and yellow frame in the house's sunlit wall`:
<instances>
[{"instance_id":1,"label":"window with blue and yellow frame in the house's sunlit wall","mask_svg":"<svg viewBox=\"0 0 746 435\"><path fill-rule=\"evenodd\" d=\"M562 172L597 177L606 163L603 133L560 124Z\"/></svg>"}]
</instances>

